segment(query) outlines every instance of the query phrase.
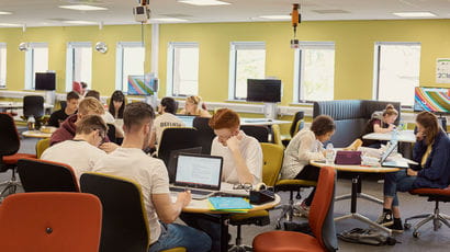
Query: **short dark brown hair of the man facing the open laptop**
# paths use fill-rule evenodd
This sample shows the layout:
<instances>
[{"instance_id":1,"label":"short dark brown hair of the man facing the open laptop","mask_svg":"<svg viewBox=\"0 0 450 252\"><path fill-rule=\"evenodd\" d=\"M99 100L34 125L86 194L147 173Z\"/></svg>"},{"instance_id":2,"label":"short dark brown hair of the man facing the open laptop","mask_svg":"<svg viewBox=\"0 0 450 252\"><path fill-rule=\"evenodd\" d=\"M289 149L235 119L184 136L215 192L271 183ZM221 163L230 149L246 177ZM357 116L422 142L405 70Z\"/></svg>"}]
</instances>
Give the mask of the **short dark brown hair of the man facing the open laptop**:
<instances>
[{"instance_id":1,"label":"short dark brown hair of the man facing the open laptop","mask_svg":"<svg viewBox=\"0 0 450 252\"><path fill-rule=\"evenodd\" d=\"M125 131L133 131L155 118L154 108L144 102L134 102L125 106L123 112L123 125Z\"/></svg>"}]
</instances>

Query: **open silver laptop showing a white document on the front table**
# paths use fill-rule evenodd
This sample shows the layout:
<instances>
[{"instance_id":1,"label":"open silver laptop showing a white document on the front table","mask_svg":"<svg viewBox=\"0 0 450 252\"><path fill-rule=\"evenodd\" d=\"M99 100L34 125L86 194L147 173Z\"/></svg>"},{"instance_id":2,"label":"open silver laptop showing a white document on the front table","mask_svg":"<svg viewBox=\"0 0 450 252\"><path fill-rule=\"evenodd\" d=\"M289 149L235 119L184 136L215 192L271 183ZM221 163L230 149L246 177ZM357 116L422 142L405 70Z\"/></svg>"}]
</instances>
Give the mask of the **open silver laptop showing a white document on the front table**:
<instances>
[{"instance_id":1,"label":"open silver laptop showing a white document on the front table","mask_svg":"<svg viewBox=\"0 0 450 252\"><path fill-rule=\"evenodd\" d=\"M221 190L222 157L179 153L171 192L191 191L192 198L203 199Z\"/></svg>"}]
</instances>

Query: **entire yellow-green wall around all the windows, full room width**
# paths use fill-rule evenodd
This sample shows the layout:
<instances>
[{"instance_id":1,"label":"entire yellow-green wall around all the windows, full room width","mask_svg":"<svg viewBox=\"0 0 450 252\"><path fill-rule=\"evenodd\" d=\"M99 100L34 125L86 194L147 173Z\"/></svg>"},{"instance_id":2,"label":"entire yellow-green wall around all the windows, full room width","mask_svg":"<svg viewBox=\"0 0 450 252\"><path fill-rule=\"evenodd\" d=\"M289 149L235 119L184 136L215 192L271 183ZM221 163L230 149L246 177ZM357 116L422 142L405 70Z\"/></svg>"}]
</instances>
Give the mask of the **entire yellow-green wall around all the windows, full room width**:
<instances>
[{"instance_id":1,"label":"entire yellow-green wall around all the windows, full room width","mask_svg":"<svg viewBox=\"0 0 450 252\"><path fill-rule=\"evenodd\" d=\"M150 60L150 25L146 26L146 71ZM166 94L167 47L169 42L198 42L200 45L200 95L206 101L223 102L228 95L229 43L266 42L266 76L282 79L282 105L293 99L293 31L289 22L162 24L159 27L159 78ZM301 41L329 41L336 44L335 99L371 99L373 49L375 42L421 43L420 84L450 87L435 82L436 59L450 58L450 20L421 21L317 21L303 22L297 28ZM68 42L102 41L109 45L103 55L93 53L92 88L109 95L115 87L115 46L120 41L139 41L139 25L82 27L0 28L0 42L8 43L9 90L22 90L24 53L21 42L49 43L49 69L58 76L57 89L64 91L65 58Z\"/></svg>"}]
</instances>

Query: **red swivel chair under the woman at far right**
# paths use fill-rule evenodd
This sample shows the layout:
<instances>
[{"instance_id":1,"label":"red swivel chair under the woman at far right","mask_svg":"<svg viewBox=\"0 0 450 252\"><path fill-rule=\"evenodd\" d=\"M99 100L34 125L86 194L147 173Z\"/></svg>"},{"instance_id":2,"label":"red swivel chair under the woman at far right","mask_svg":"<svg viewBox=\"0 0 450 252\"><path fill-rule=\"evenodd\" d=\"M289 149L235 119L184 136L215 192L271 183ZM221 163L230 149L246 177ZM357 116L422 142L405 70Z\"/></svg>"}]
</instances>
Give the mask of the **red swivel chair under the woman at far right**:
<instances>
[{"instance_id":1,"label":"red swivel chair under the woman at far right","mask_svg":"<svg viewBox=\"0 0 450 252\"><path fill-rule=\"evenodd\" d=\"M412 219L423 218L423 220L420 220L418 224L414 226L413 236L415 238L418 238L420 236L420 232L418 231L418 229L431 220L432 220L432 226L434 226L435 231L437 231L442 226L442 224L445 224L447 227L450 228L450 224L448 221L450 220L450 216L439 213L439 202L450 202L450 186L443 190L441 188L416 188L416 190L412 190L409 193L414 195L426 196L428 197L428 202L436 203L435 213L417 215L417 216L413 216L413 217L405 219L405 229L409 229L412 226L407 221Z\"/></svg>"}]
</instances>

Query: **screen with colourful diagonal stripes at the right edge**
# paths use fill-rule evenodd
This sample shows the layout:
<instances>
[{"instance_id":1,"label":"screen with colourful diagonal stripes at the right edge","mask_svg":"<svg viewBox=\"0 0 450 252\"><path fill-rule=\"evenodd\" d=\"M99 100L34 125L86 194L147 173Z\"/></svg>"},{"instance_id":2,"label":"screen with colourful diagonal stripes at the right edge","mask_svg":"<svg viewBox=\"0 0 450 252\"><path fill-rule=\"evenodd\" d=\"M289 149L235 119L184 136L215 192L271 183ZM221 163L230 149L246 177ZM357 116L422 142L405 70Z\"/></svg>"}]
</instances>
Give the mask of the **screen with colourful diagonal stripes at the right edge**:
<instances>
[{"instance_id":1,"label":"screen with colourful diagonal stripes at the right edge","mask_svg":"<svg viewBox=\"0 0 450 252\"><path fill-rule=\"evenodd\" d=\"M418 87L414 91L414 111L450 113L450 89Z\"/></svg>"}]
</instances>

